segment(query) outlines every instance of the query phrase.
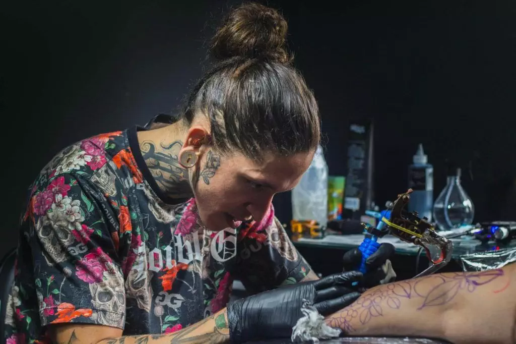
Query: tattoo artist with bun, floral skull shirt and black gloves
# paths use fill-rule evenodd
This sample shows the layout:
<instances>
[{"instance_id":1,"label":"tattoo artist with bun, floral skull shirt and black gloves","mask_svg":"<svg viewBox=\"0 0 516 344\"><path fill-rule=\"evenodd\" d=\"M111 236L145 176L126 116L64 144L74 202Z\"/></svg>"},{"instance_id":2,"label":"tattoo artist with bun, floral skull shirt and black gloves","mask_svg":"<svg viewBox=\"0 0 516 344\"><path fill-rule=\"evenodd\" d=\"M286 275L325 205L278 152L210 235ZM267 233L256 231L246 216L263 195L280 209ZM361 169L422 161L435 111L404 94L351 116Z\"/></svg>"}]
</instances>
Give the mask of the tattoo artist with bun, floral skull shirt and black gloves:
<instances>
[{"instance_id":1,"label":"tattoo artist with bun, floral skull shirt and black gloves","mask_svg":"<svg viewBox=\"0 0 516 344\"><path fill-rule=\"evenodd\" d=\"M233 10L178 116L59 152L30 187L8 343L223 343L290 337L390 282L391 245L318 279L274 216L320 140L317 103L274 9ZM227 308L233 279L254 293Z\"/></svg>"}]
</instances>

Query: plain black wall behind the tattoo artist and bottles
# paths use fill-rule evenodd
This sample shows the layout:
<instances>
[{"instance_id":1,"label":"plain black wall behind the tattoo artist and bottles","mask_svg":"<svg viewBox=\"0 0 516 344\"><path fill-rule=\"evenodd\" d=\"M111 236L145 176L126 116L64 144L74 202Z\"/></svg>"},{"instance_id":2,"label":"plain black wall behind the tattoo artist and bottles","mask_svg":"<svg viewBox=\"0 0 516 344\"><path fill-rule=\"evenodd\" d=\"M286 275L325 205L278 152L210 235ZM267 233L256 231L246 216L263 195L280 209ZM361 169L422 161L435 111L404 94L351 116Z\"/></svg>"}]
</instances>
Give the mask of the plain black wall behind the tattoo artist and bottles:
<instances>
[{"instance_id":1,"label":"plain black wall behind the tattoo artist and bottles","mask_svg":"<svg viewBox=\"0 0 516 344\"><path fill-rule=\"evenodd\" d=\"M0 4L0 254L16 245L26 189L57 151L180 105L228 4ZM445 159L454 159L475 220L514 219L514 2L268 4L287 18L296 66L319 101L330 174L345 174L349 118L372 118L377 204L407 187L407 165L422 143L434 197ZM275 205L289 221L289 195Z\"/></svg>"}]
</instances>

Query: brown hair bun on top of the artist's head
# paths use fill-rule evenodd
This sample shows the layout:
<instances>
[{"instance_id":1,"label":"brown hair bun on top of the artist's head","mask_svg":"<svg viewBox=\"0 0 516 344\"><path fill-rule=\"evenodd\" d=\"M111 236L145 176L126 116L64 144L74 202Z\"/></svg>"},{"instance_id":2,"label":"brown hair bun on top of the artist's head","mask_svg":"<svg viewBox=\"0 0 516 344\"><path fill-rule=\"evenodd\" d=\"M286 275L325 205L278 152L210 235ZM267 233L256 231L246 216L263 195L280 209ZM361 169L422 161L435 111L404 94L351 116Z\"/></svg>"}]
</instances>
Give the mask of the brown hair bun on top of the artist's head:
<instances>
[{"instance_id":1,"label":"brown hair bun on top of the artist's head","mask_svg":"<svg viewBox=\"0 0 516 344\"><path fill-rule=\"evenodd\" d=\"M268 58L287 64L287 22L275 9L249 3L232 10L212 39L211 54L218 60L231 57Z\"/></svg>"}]
</instances>

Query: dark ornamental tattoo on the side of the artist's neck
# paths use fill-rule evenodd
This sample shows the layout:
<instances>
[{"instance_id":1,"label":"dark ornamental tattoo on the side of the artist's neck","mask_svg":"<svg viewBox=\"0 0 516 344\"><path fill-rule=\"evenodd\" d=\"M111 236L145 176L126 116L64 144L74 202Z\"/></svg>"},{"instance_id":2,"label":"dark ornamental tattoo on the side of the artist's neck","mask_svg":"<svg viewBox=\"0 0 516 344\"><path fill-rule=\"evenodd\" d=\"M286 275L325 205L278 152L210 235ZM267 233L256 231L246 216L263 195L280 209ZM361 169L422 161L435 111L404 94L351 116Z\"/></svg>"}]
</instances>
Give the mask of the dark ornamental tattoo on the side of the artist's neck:
<instances>
[{"instance_id":1,"label":"dark ornamental tattoo on the side of the artist's neck","mask_svg":"<svg viewBox=\"0 0 516 344\"><path fill-rule=\"evenodd\" d=\"M154 180L167 194L175 198L190 197L192 195L188 183L188 171L181 166L178 159L183 143L174 141L160 143L146 140L140 143L143 159L147 163Z\"/></svg>"}]
</instances>

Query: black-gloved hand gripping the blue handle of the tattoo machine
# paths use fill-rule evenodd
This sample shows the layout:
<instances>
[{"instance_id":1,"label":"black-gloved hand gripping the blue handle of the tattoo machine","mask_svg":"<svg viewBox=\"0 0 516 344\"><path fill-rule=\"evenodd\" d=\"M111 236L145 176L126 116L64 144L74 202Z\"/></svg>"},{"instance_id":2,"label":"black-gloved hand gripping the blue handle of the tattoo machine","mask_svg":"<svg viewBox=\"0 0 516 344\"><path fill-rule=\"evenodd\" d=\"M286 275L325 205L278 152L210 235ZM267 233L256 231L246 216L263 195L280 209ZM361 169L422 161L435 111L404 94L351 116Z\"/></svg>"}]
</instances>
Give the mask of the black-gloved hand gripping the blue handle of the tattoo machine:
<instances>
[{"instance_id":1,"label":"black-gloved hand gripping the blue handle of the tattoo machine","mask_svg":"<svg viewBox=\"0 0 516 344\"><path fill-rule=\"evenodd\" d=\"M396 273L389 258L394 256L395 248L389 243L380 244L378 250L365 261L367 273L360 284L365 288L372 288L379 284L394 282ZM362 252L354 248L344 254L344 271L358 270L362 263Z\"/></svg>"}]
</instances>

